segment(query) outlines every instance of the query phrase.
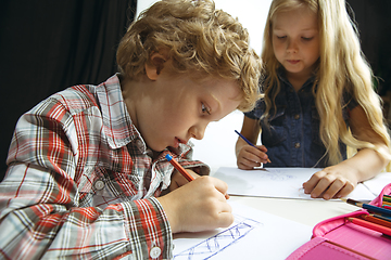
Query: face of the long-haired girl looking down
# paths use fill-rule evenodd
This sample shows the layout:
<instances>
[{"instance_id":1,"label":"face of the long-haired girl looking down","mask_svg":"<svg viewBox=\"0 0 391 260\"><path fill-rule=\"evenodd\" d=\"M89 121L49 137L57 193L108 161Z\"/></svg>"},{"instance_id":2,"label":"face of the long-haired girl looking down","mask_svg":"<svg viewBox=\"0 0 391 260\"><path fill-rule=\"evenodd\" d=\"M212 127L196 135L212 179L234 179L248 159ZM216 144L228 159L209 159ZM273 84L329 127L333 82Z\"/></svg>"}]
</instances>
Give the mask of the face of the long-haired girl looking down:
<instances>
[{"instance_id":1,"label":"face of the long-haired girl looking down","mask_svg":"<svg viewBox=\"0 0 391 260\"><path fill-rule=\"evenodd\" d=\"M273 18L272 42L287 76L306 79L319 57L316 14L306 8L280 12Z\"/></svg>"}]
</instances>

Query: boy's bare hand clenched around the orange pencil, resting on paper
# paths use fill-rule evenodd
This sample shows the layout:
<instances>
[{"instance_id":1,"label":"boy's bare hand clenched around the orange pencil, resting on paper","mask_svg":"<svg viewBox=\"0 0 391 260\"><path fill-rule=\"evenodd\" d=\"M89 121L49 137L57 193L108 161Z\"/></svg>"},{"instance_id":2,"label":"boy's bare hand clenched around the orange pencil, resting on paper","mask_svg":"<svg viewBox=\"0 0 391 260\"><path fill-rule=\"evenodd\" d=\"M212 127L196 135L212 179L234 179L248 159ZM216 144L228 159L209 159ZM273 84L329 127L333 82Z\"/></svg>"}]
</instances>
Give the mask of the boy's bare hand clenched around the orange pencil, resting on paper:
<instances>
[{"instance_id":1,"label":"boy's bare hand clenched around the orange pencil, resting on paper","mask_svg":"<svg viewBox=\"0 0 391 260\"><path fill-rule=\"evenodd\" d=\"M159 197L173 233L227 227L234 222L225 194L227 184L216 178L200 177Z\"/></svg>"}]
</instances>

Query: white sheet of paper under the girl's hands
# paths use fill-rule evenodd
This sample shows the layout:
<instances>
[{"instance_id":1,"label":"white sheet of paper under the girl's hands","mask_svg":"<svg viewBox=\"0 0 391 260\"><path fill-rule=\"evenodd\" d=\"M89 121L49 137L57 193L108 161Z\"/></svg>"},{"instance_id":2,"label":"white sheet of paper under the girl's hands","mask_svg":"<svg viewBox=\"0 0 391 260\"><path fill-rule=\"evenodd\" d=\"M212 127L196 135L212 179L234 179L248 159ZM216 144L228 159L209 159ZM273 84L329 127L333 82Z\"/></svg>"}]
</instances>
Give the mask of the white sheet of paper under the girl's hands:
<instances>
[{"instance_id":1,"label":"white sheet of paper under the girl's hands","mask_svg":"<svg viewBox=\"0 0 391 260\"><path fill-rule=\"evenodd\" d=\"M304 194L302 185L319 168L260 168L255 170L240 170L236 167L220 167L213 177L228 184L228 194L313 199ZM349 194L357 200L371 200L375 195L362 183Z\"/></svg>"}]
</instances>

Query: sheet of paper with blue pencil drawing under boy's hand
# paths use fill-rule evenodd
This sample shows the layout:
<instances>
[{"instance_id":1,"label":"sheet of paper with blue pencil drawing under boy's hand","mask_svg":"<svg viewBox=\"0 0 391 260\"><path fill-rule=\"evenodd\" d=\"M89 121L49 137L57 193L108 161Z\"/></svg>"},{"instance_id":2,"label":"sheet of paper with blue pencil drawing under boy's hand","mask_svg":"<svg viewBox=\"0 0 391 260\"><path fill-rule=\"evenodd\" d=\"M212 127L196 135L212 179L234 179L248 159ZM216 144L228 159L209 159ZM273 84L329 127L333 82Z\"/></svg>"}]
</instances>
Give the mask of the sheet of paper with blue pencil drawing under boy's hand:
<instances>
[{"instance_id":1,"label":"sheet of paper with blue pencil drawing under boy's hand","mask_svg":"<svg viewBox=\"0 0 391 260\"><path fill-rule=\"evenodd\" d=\"M230 205L235 222L229 227L174 236L174 259L286 259L311 239L310 225L241 204Z\"/></svg>"}]
</instances>

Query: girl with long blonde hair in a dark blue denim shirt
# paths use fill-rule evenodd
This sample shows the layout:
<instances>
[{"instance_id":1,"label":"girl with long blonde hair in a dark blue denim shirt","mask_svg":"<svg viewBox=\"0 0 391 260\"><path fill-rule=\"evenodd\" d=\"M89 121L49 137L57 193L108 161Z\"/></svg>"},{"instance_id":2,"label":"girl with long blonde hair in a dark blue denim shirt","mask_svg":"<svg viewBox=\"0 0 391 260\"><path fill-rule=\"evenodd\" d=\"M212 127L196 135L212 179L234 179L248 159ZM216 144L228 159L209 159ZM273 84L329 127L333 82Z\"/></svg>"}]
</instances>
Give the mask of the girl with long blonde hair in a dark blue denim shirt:
<instances>
[{"instance_id":1,"label":"girl with long blonde hair in a dark blue denim shirt","mask_svg":"<svg viewBox=\"0 0 391 260\"><path fill-rule=\"evenodd\" d=\"M344 0L274 0L264 31L265 96L244 114L237 165L320 167L304 192L346 196L390 160L373 73ZM357 153L346 159L346 145ZM267 153L267 154L266 154Z\"/></svg>"}]
</instances>

